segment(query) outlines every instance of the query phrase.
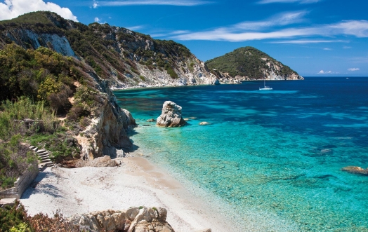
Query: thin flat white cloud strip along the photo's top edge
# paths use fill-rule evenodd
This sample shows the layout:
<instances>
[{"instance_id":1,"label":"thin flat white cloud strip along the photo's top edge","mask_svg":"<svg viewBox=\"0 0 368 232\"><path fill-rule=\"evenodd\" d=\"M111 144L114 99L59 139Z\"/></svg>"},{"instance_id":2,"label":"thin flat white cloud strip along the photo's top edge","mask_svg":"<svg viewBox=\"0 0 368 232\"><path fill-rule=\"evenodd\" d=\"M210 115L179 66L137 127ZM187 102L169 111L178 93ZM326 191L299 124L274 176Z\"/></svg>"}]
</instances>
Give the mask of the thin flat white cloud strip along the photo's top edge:
<instances>
[{"instance_id":1,"label":"thin flat white cloud strip along the photo's top edge","mask_svg":"<svg viewBox=\"0 0 368 232\"><path fill-rule=\"evenodd\" d=\"M101 1L98 6L138 6L138 5L169 5L169 6L198 6L211 4L204 0L127 0L127 1Z\"/></svg>"}]
</instances>

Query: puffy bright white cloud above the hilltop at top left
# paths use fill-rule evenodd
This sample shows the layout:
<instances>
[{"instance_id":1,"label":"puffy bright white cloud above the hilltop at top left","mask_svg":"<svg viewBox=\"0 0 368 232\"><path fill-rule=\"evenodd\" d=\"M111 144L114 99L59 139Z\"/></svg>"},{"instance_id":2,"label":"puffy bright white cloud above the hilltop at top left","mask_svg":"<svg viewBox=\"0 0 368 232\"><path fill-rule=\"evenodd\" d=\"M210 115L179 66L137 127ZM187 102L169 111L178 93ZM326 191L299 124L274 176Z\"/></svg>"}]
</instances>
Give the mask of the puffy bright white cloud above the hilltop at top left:
<instances>
[{"instance_id":1,"label":"puffy bright white cloud above the hilltop at top left","mask_svg":"<svg viewBox=\"0 0 368 232\"><path fill-rule=\"evenodd\" d=\"M10 20L32 11L52 11L63 18L78 21L69 8L60 7L52 2L42 0L5 0L0 2L0 20Z\"/></svg>"}]
</instances>

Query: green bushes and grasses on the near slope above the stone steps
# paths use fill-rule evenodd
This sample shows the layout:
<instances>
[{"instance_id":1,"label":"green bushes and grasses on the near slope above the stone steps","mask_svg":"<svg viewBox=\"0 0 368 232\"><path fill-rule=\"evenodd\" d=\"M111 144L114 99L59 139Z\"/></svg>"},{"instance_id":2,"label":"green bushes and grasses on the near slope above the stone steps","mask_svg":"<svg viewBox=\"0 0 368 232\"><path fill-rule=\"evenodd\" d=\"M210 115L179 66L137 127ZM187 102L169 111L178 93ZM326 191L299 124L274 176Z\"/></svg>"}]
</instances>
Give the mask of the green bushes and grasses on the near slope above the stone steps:
<instances>
[{"instance_id":1,"label":"green bushes and grasses on the near slope above the stone steps","mask_svg":"<svg viewBox=\"0 0 368 232\"><path fill-rule=\"evenodd\" d=\"M86 128L88 116L105 101L86 71L91 69L77 59L48 48L25 50L12 43L0 50L1 186L10 186L31 161L21 141L48 149L55 162L79 157L79 145L65 131ZM67 116L67 128L56 113Z\"/></svg>"}]
</instances>

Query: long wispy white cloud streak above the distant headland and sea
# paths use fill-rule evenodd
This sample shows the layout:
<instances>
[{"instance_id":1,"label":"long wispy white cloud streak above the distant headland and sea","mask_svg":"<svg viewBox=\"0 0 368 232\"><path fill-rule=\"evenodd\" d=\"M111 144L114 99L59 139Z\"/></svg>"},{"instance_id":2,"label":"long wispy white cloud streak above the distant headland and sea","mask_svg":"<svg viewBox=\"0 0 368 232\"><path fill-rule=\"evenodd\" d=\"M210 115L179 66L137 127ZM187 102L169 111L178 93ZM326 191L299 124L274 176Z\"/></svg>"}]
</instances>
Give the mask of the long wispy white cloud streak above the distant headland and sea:
<instances>
[{"instance_id":1,"label":"long wispy white cloud streak above the distant headland and sea","mask_svg":"<svg viewBox=\"0 0 368 232\"><path fill-rule=\"evenodd\" d=\"M301 36L303 36L303 38L306 36L326 36L331 38L331 36L339 35L368 37L368 21L366 20L350 20L329 25L315 25L314 27L289 27L283 29L276 28L285 27L295 22L303 22L302 17L305 14L305 11L296 13L283 13L268 20L258 22L240 22L235 25L229 25L228 27L218 27L202 32L178 34L176 36L171 36L171 38L178 40L239 42L261 39L289 39ZM308 39L304 39L303 41L308 41Z\"/></svg>"}]
</instances>

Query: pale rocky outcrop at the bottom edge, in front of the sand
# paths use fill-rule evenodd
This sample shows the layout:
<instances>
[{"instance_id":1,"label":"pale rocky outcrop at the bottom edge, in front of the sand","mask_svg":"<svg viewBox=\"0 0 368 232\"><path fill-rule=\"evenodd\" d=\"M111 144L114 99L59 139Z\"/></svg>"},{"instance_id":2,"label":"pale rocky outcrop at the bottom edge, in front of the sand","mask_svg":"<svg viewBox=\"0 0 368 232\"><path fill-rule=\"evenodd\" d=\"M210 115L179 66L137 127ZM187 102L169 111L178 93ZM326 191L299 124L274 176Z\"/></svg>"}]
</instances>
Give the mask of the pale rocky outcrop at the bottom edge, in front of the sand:
<instances>
[{"instance_id":1,"label":"pale rocky outcrop at the bottom edge, in front of the sand","mask_svg":"<svg viewBox=\"0 0 368 232\"><path fill-rule=\"evenodd\" d=\"M100 211L76 214L69 220L86 231L173 232L161 207L132 207L126 211Z\"/></svg>"}]
</instances>

